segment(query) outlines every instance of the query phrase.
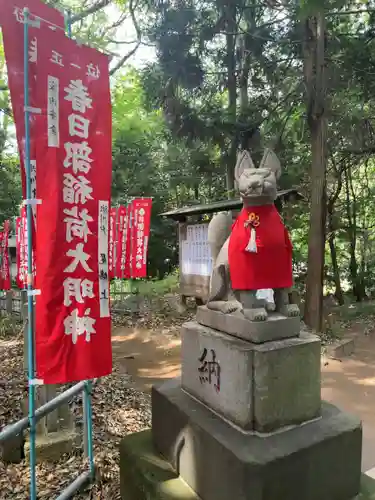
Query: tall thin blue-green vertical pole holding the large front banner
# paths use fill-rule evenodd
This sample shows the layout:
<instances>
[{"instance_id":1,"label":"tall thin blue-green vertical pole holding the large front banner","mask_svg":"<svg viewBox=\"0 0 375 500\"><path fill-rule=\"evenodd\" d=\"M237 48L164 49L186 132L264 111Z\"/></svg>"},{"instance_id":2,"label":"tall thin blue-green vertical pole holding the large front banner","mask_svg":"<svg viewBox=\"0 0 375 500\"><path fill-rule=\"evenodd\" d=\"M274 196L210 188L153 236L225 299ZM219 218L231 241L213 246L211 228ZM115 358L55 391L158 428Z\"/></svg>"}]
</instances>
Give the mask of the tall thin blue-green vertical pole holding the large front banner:
<instances>
[{"instance_id":1,"label":"tall thin blue-green vertical pole holding the large front banner","mask_svg":"<svg viewBox=\"0 0 375 500\"><path fill-rule=\"evenodd\" d=\"M31 200L31 164L30 164L30 121L29 121L29 9L24 14L24 104L25 104L25 166L26 166L26 214L27 214L27 344L28 344L28 379L29 379L29 424L30 424L30 500L36 500L36 450L35 450L35 385L34 385L34 299L33 299L33 231Z\"/></svg>"}]
</instances>

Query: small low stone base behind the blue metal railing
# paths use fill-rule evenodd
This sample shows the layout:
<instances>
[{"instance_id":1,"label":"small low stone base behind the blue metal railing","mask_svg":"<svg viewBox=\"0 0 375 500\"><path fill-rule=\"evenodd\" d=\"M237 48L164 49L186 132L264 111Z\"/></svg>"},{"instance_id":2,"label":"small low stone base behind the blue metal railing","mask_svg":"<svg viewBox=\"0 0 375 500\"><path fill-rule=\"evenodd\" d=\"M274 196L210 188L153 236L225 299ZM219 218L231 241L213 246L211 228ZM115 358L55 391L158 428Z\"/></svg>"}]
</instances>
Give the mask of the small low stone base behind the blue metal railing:
<instances>
[{"instance_id":1,"label":"small low stone base behind the blue metal railing","mask_svg":"<svg viewBox=\"0 0 375 500\"><path fill-rule=\"evenodd\" d=\"M36 461L58 462L65 453L71 453L80 446L81 437L74 431L49 432L36 437ZM25 458L29 459L29 441L25 443Z\"/></svg>"}]
</instances>

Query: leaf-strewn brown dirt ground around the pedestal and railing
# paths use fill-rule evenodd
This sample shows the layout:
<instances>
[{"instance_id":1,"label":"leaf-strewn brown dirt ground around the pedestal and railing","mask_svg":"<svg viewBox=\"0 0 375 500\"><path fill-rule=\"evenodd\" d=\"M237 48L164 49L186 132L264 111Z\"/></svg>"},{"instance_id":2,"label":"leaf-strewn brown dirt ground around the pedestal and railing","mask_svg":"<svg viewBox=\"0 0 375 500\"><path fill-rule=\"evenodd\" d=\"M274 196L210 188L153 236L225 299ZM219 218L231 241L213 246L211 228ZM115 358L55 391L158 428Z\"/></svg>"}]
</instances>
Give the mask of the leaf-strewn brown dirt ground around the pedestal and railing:
<instances>
[{"instance_id":1,"label":"leaf-strewn brown dirt ground around the pedestal and railing","mask_svg":"<svg viewBox=\"0 0 375 500\"><path fill-rule=\"evenodd\" d=\"M375 304L332 311L332 330L340 332L340 336L353 332L358 335L352 356L322 363L322 396L363 420L363 470L367 470L375 466ZM102 379L93 393L99 480L76 498L120 498L119 441L126 434L150 426L151 386L180 374L180 327L192 315L152 314L148 318L122 317L115 321L113 374ZM2 335L0 329L0 428L22 417L22 401L27 398L22 344L17 325L11 335ZM80 400L72 405L78 421L81 405ZM38 465L38 499L55 498L84 467L81 449L62 457L57 464ZM24 500L28 485L26 461L12 465L0 461L0 499Z\"/></svg>"}]
</instances>

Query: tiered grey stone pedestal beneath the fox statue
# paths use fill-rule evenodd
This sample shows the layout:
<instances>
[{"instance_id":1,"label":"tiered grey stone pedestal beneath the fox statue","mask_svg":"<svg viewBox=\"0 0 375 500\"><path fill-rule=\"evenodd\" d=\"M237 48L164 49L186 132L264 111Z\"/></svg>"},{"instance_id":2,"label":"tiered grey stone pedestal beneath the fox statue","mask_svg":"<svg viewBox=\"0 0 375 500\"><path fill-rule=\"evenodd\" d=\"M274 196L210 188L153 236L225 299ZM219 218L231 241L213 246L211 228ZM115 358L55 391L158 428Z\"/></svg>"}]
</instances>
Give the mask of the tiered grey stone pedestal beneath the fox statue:
<instances>
[{"instance_id":1,"label":"tiered grey stone pedestal beneath the fox statue","mask_svg":"<svg viewBox=\"0 0 375 500\"><path fill-rule=\"evenodd\" d=\"M154 449L188 485L186 498L353 500L360 491L362 427L321 402L320 339L296 332L298 318L289 331L290 318L274 316L272 328L237 318L242 330L235 335L230 315L200 311L205 325L182 328L181 380L152 392ZM121 448L121 464L134 455L130 440L129 446ZM181 498L179 479L178 491L161 492L169 480L149 480L149 466L138 456L133 472L125 467L128 484L143 476L147 487L137 484L128 495L121 479L123 499Z\"/></svg>"}]
</instances>

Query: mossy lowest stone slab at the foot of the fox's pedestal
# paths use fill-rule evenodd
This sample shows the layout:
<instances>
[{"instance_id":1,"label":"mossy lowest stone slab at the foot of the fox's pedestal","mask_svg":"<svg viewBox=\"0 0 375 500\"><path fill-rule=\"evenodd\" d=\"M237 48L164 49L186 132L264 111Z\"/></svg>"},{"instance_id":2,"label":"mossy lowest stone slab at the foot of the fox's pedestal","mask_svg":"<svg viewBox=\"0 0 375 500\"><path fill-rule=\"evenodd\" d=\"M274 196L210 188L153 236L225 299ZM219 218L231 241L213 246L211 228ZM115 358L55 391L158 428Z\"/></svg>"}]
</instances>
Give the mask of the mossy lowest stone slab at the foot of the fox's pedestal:
<instances>
[{"instance_id":1,"label":"mossy lowest stone slab at the foot of the fox's pedestal","mask_svg":"<svg viewBox=\"0 0 375 500\"><path fill-rule=\"evenodd\" d=\"M121 441L120 484L122 500L200 500L154 450L151 430L131 434ZM353 500L374 499L375 480L363 474L360 493Z\"/></svg>"}]
</instances>

